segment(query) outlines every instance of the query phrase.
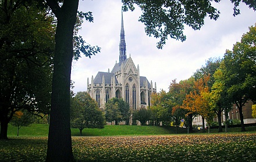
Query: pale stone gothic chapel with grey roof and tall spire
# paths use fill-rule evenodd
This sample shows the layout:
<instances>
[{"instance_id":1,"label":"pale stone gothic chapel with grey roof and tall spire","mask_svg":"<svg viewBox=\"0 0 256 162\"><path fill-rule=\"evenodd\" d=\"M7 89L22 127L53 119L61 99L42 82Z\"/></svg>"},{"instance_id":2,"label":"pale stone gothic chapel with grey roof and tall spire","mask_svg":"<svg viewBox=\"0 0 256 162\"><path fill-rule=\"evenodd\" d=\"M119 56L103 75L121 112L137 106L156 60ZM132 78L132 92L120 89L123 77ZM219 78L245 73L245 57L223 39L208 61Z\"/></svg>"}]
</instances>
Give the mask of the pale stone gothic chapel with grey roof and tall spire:
<instances>
[{"instance_id":1,"label":"pale stone gothic chapel with grey roof and tall spire","mask_svg":"<svg viewBox=\"0 0 256 162\"><path fill-rule=\"evenodd\" d=\"M111 72L98 72L95 78L87 78L87 93L97 101L99 108L104 109L110 98L123 98L134 110L147 108L151 94L157 92L157 85L153 88L152 81L140 76L140 70L134 65L131 57L126 57L125 30L123 28L123 12L121 18L121 34L119 45L119 62Z\"/></svg>"}]
</instances>

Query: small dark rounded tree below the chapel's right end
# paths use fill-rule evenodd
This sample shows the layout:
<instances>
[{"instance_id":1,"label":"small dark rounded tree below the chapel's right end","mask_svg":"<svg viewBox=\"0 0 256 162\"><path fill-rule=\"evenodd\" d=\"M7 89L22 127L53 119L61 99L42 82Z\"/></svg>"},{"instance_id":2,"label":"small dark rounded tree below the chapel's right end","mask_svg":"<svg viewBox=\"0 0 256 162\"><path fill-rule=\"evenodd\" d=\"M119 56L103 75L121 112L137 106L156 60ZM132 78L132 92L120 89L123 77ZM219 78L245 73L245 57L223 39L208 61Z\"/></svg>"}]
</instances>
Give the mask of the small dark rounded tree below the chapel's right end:
<instances>
[{"instance_id":1,"label":"small dark rounded tree below the chapel's right end","mask_svg":"<svg viewBox=\"0 0 256 162\"><path fill-rule=\"evenodd\" d=\"M152 119L151 109L141 108L133 112L133 120L140 121L141 126L144 126L148 120Z\"/></svg>"}]
</instances>

